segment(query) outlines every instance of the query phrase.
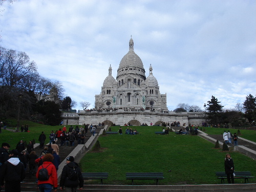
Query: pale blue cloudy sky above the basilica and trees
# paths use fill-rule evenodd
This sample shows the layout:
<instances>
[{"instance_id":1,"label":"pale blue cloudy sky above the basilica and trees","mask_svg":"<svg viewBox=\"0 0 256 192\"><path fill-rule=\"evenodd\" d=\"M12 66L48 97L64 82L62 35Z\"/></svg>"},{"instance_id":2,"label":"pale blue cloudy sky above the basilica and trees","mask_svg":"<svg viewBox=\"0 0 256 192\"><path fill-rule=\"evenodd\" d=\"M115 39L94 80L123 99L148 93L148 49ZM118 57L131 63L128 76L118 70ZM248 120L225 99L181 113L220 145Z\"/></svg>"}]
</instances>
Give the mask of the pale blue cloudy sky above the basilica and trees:
<instances>
[{"instance_id":1,"label":"pale blue cloudy sky above the basilica and trees","mask_svg":"<svg viewBox=\"0 0 256 192\"><path fill-rule=\"evenodd\" d=\"M4 3L0 46L26 52L41 76L89 101L122 57L134 51L146 76L152 64L167 106L198 105L214 95L225 109L256 95L256 1L18 0Z\"/></svg>"}]
</instances>

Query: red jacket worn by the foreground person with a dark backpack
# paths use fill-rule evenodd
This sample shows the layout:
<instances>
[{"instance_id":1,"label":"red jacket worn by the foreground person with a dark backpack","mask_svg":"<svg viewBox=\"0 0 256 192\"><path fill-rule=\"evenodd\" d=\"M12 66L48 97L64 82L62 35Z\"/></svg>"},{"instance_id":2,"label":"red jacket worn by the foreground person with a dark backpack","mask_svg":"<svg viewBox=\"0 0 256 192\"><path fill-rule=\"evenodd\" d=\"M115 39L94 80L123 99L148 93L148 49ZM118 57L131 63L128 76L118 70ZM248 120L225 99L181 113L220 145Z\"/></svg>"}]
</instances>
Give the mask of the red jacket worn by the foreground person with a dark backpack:
<instances>
[{"instance_id":1,"label":"red jacket worn by the foreground person with a dark backpack","mask_svg":"<svg viewBox=\"0 0 256 192\"><path fill-rule=\"evenodd\" d=\"M58 187L58 177L57 177L56 168L52 162L45 161L44 163L42 163L42 165L38 167L38 170L36 172L36 178L38 178L38 173L39 173L39 170L42 168L42 166L44 166L44 168L46 168L48 166L46 169L48 170L48 175L50 177L47 181L38 180L37 184L39 185L42 183L49 183L49 184L53 185L53 188L57 188Z\"/></svg>"}]
</instances>

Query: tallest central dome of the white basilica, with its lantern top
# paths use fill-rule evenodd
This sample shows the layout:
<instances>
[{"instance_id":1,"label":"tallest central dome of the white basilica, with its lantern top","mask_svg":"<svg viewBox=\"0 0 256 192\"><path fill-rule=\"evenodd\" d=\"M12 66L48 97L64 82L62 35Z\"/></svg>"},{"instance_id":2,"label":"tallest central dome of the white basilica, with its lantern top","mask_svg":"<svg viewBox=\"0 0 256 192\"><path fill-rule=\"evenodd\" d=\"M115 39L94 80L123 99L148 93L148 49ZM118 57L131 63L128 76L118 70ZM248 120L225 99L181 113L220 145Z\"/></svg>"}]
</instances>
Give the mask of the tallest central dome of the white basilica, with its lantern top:
<instances>
[{"instance_id":1,"label":"tallest central dome of the white basilica, with its lantern top","mask_svg":"<svg viewBox=\"0 0 256 192\"><path fill-rule=\"evenodd\" d=\"M129 52L123 56L119 64L119 69L124 67L138 67L144 69L140 57L133 50L133 39L129 41Z\"/></svg>"}]
</instances>

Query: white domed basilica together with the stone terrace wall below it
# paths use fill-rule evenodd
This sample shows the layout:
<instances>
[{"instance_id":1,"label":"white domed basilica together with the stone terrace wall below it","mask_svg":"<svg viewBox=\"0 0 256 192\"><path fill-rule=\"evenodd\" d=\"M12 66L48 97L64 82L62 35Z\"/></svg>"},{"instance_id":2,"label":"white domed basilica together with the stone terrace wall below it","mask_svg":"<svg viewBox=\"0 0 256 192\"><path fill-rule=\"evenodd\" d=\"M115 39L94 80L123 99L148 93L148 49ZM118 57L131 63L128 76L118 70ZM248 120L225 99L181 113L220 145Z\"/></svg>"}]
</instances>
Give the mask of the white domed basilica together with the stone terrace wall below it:
<instances>
[{"instance_id":1,"label":"white domed basilica together with the stone terrace wall below it","mask_svg":"<svg viewBox=\"0 0 256 192\"><path fill-rule=\"evenodd\" d=\"M200 112L173 112L166 106L166 94L160 94L157 79L150 65L149 75L140 57L134 52L134 42L129 41L129 51L120 61L116 79L112 68L105 78L101 92L95 95L95 108L79 113L63 113L63 122L67 124L116 124L132 125L161 124L180 121L201 125L205 114Z\"/></svg>"}]
</instances>

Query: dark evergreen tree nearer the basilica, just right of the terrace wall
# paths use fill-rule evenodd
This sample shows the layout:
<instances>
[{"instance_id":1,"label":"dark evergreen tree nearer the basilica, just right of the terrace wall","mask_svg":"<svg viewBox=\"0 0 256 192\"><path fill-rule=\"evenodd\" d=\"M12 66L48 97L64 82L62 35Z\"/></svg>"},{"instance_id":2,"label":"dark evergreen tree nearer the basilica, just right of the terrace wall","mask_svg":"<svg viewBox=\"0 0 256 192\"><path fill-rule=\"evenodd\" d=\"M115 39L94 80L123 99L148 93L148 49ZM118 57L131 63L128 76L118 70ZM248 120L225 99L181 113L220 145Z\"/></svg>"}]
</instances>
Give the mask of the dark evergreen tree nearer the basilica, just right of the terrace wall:
<instances>
[{"instance_id":1,"label":"dark evergreen tree nearer the basilica, just right of the terrace wall","mask_svg":"<svg viewBox=\"0 0 256 192\"><path fill-rule=\"evenodd\" d=\"M208 106L206 108L206 115L210 123L216 125L220 122L223 106L220 104L220 101L218 101L218 99L215 98L215 96L211 96L210 101L207 102Z\"/></svg>"}]
</instances>

